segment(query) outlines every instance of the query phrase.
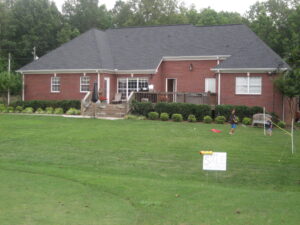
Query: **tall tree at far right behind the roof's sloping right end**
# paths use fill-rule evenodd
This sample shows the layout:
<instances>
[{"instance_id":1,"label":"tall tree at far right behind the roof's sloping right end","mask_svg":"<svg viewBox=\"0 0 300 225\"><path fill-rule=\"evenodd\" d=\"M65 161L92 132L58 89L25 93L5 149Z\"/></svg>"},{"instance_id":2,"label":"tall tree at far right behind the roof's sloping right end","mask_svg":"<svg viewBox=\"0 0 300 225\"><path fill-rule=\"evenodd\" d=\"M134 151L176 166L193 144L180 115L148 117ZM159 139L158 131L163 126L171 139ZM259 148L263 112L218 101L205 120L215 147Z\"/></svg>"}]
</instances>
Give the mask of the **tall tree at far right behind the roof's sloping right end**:
<instances>
[{"instance_id":1,"label":"tall tree at far right behind the roof's sloping right end","mask_svg":"<svg viewBox=\"0 0 300 225\"><path fill-rule=\"evenodd\" d=\"M300 66L300 2L257 2L247 13L251 29L292 66Z\"/></svg>"}]
</instances>

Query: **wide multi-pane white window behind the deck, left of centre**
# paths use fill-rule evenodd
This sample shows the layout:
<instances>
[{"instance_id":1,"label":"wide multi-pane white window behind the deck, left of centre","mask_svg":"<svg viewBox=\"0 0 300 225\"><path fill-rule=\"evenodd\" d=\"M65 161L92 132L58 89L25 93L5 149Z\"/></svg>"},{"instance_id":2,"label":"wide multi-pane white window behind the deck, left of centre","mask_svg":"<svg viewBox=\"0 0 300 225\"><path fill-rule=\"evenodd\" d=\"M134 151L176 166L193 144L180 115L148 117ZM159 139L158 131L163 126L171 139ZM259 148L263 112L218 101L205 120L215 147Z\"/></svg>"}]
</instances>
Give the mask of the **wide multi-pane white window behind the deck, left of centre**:
<instances>
[{"instance_id":1,"label":"wide multi-pane white window behind the deck, left of centre","mask_svg":"<svg viewBox=\"0 0 300 225\"><path fill-rule=\"evenodd\" d=\"M119 78L118 93L122 93L122 99L126 99L132 91L147 91L147 78Z\"/></svg>"}]
</instances>

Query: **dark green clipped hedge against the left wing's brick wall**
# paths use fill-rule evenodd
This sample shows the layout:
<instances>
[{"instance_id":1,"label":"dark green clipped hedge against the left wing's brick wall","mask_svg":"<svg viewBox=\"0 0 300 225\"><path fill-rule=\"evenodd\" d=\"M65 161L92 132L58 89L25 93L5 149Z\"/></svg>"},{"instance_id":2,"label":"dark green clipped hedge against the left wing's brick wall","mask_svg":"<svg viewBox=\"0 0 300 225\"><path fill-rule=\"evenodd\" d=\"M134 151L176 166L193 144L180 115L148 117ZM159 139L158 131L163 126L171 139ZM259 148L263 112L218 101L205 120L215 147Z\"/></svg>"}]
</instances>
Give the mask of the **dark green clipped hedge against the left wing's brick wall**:
<instances>
[{"instance_id":1,"label":"dark green clipped hedge against the left wing's brick wall","mask_svg":"<svg viewBox=\"0 0 300 225\"><path fill-rule=\"evenodd\" d=\"M16 101L11 104L14 108L22 106L24 109L31 107L36 111L37 109L46 109L47 107L62 108L64 112L67 112L70 108L80 109L81 103L79 100L53 100L53 101Z\"/></svg>"}]
</instances>

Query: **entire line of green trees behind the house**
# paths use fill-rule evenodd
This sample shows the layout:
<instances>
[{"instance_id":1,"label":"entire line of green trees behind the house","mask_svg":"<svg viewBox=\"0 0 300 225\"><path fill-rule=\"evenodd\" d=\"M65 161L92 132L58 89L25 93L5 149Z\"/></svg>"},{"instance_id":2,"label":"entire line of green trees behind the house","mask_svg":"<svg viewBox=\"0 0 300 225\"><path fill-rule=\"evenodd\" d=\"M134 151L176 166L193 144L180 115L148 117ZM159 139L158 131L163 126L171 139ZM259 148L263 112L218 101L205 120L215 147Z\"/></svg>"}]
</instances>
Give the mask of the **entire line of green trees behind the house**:
<instances>
[{"instance_id":1,"label":"entire line of green trees behind the house","mask_svg":"<svg viewBox=\"0 0 300 225\"><path fill-rule=\"evenodd\" d=\"M60 12L50 0L0 0L0 71L42 56L90 28L166 24L246 24L292 67L300 67L300 1L268 0L245 15L198 10L178 0L118 0L111 10L101 0L66 0Z\"/></svg>"}]
</instances>

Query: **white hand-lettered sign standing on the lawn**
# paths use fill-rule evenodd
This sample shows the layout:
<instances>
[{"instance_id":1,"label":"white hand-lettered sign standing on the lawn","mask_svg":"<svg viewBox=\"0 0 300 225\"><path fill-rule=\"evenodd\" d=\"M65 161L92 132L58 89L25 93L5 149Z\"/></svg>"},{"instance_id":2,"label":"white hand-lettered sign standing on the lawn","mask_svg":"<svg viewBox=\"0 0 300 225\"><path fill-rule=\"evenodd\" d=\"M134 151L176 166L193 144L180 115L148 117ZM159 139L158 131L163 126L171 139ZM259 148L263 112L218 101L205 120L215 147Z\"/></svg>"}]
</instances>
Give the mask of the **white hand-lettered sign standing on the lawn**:
<instances>
[{"instance_id":1,"label":"white hand-lettered sign standing on the lawn","mask_svg":"<svg viewBox=\"0 0 300 225\"><path fill-rule=\"evenodd\" d=\"M214 152L211 155L203 155L203 170L226 171L226 162L226 152Z\"/></svg>"}]
</instances>

